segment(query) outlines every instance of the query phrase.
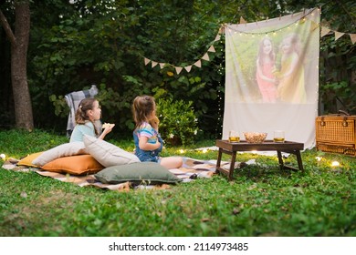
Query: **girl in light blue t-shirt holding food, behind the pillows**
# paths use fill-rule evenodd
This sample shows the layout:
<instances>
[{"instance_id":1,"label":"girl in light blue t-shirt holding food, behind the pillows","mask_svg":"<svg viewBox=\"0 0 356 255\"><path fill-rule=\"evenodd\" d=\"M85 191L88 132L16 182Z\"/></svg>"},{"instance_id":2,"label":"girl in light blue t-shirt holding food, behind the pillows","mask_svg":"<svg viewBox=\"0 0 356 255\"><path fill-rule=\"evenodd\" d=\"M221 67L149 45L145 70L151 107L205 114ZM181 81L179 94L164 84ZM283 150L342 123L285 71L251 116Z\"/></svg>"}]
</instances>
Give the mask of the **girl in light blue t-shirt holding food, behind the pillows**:
<instances>
[{"instance_id":1,"label":"girl in light blue t-shirt holding food, behind the pillows","mask_svg":"<svg viewBox=\"0 0 356 255\"><path fill-rule=\"evenodd\" d=\"M84 135L90 137L104 139L105 136L111 132L115 124L110 124L102 132L98 130L94 122L101 117L101 108L99 102L95 98L85 98L80 101L78 110L76 112L76 127L70 135L69 142L82 142Z\"/></svg>"}]
</instances>

